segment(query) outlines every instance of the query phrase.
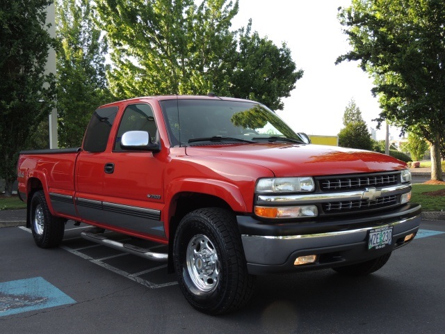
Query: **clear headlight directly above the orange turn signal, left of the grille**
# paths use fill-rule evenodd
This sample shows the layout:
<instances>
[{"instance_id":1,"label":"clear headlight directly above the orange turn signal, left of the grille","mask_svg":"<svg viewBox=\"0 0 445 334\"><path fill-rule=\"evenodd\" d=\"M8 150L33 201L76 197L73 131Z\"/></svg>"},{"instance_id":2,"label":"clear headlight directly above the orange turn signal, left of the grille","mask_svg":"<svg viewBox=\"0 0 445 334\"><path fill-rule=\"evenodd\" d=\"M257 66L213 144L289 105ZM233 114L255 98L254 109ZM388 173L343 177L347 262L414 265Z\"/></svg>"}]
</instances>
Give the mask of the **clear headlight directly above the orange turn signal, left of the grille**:
<instances>
[{"instance_id":1,"label":"clear headlight directly above the orange turn signal, left of the grille","mask_svg":"<svg viewBox=\"0 0 445 334\"><path fill-rule=\"evenodd\" d=\"M313 191L312 177L271 177L260 179L255 187L256 193L299 193Z\"/></svg>"}]
</instances>

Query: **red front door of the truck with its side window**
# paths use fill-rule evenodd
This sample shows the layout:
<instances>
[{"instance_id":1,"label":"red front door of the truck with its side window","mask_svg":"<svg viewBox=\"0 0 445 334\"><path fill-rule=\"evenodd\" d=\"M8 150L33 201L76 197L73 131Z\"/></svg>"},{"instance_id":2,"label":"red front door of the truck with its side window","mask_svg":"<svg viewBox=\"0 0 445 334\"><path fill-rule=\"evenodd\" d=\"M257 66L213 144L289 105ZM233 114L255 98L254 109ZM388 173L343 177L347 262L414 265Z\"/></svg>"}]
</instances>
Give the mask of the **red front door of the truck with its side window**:
<instances>
[{"instance_id":1,"label":"red front door of the truck with its side window","mask_svg":"<svg viewBox=\"0 0 445 334\"><path fill-rule=\"evenodd\" d=\"M152 141L156 140L158 129L152 106L129 104L122 115L113 149L104 153L102 220L117 229L163 239L163 154L122 148L122 134L132 130L146 131Z\"/></svg>"}]
</instances>

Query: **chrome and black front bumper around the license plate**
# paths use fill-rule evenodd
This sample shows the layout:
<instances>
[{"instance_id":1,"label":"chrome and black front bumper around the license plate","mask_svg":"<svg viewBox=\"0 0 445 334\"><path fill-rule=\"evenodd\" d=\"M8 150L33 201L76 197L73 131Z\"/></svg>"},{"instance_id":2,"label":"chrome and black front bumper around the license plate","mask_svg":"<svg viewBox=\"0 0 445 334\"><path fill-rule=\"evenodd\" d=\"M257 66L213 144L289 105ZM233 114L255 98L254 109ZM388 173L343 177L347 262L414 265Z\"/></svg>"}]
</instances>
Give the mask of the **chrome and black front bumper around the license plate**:
<instances>
[{"instance_id":1,"label":"chrome and black front bumper around the license plate","mask_svg":"<svg viewBox=\"0 0 445 334\"><path fill-rule=\"evenodd\" d=\"M277 224L237 218L248 271L259 275L338 267L379 257L409 242L404 239L419 230L420 213L420 205L410 203L389 212L342 220ZM385 226L393 227L391 245L368 250L369 230ZM318 256L312 264L295 266L293 262L303 255Z\"/></svg>"}]
</instances>

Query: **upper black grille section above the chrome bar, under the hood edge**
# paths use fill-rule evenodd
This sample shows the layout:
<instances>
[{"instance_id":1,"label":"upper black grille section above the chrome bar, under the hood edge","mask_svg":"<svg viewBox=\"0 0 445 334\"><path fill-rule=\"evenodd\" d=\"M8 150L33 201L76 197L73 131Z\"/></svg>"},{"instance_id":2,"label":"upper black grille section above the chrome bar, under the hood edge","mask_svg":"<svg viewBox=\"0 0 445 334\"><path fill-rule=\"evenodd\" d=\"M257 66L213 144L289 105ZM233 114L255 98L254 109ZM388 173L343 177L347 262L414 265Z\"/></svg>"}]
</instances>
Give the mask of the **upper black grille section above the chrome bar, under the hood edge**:
<instances>
[{"instance_id":1,"label":"upper black grille section above the chrome bar, under the hood edge","mask_svg":"<svg viewBox=\"0 0 445 334\"><path fill-rule=\"evenodd\" d=\"M318 180L321 191L364 189L366 186L391 186L398 183L399 173L330 177Z\"/></svg>"}]
</instances>

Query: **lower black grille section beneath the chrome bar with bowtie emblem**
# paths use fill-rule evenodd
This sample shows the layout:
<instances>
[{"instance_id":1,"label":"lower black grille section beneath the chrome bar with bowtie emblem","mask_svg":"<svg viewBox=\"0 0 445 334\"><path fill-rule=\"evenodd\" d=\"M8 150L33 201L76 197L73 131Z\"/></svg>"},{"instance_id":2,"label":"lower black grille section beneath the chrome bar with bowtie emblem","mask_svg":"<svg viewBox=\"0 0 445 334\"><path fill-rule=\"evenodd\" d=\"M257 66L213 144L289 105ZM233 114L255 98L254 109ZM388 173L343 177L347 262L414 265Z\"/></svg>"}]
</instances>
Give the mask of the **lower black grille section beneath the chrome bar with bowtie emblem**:
<instances>
[{"instance_id":1,"label":"lower black grille section beneath the chrome bar with bowtie emblem","mask_svg":"<svg viewBox=\"0 0 445 334\"><path fill-rule=\"evenodd\" d=\"M396 195L380 197L376 200L347 200L343 202L327 202L323 203L324 212L350 212L358 209L378 209L380 207L389 207L397 204Z\"/></svg>"}]
</instances>

